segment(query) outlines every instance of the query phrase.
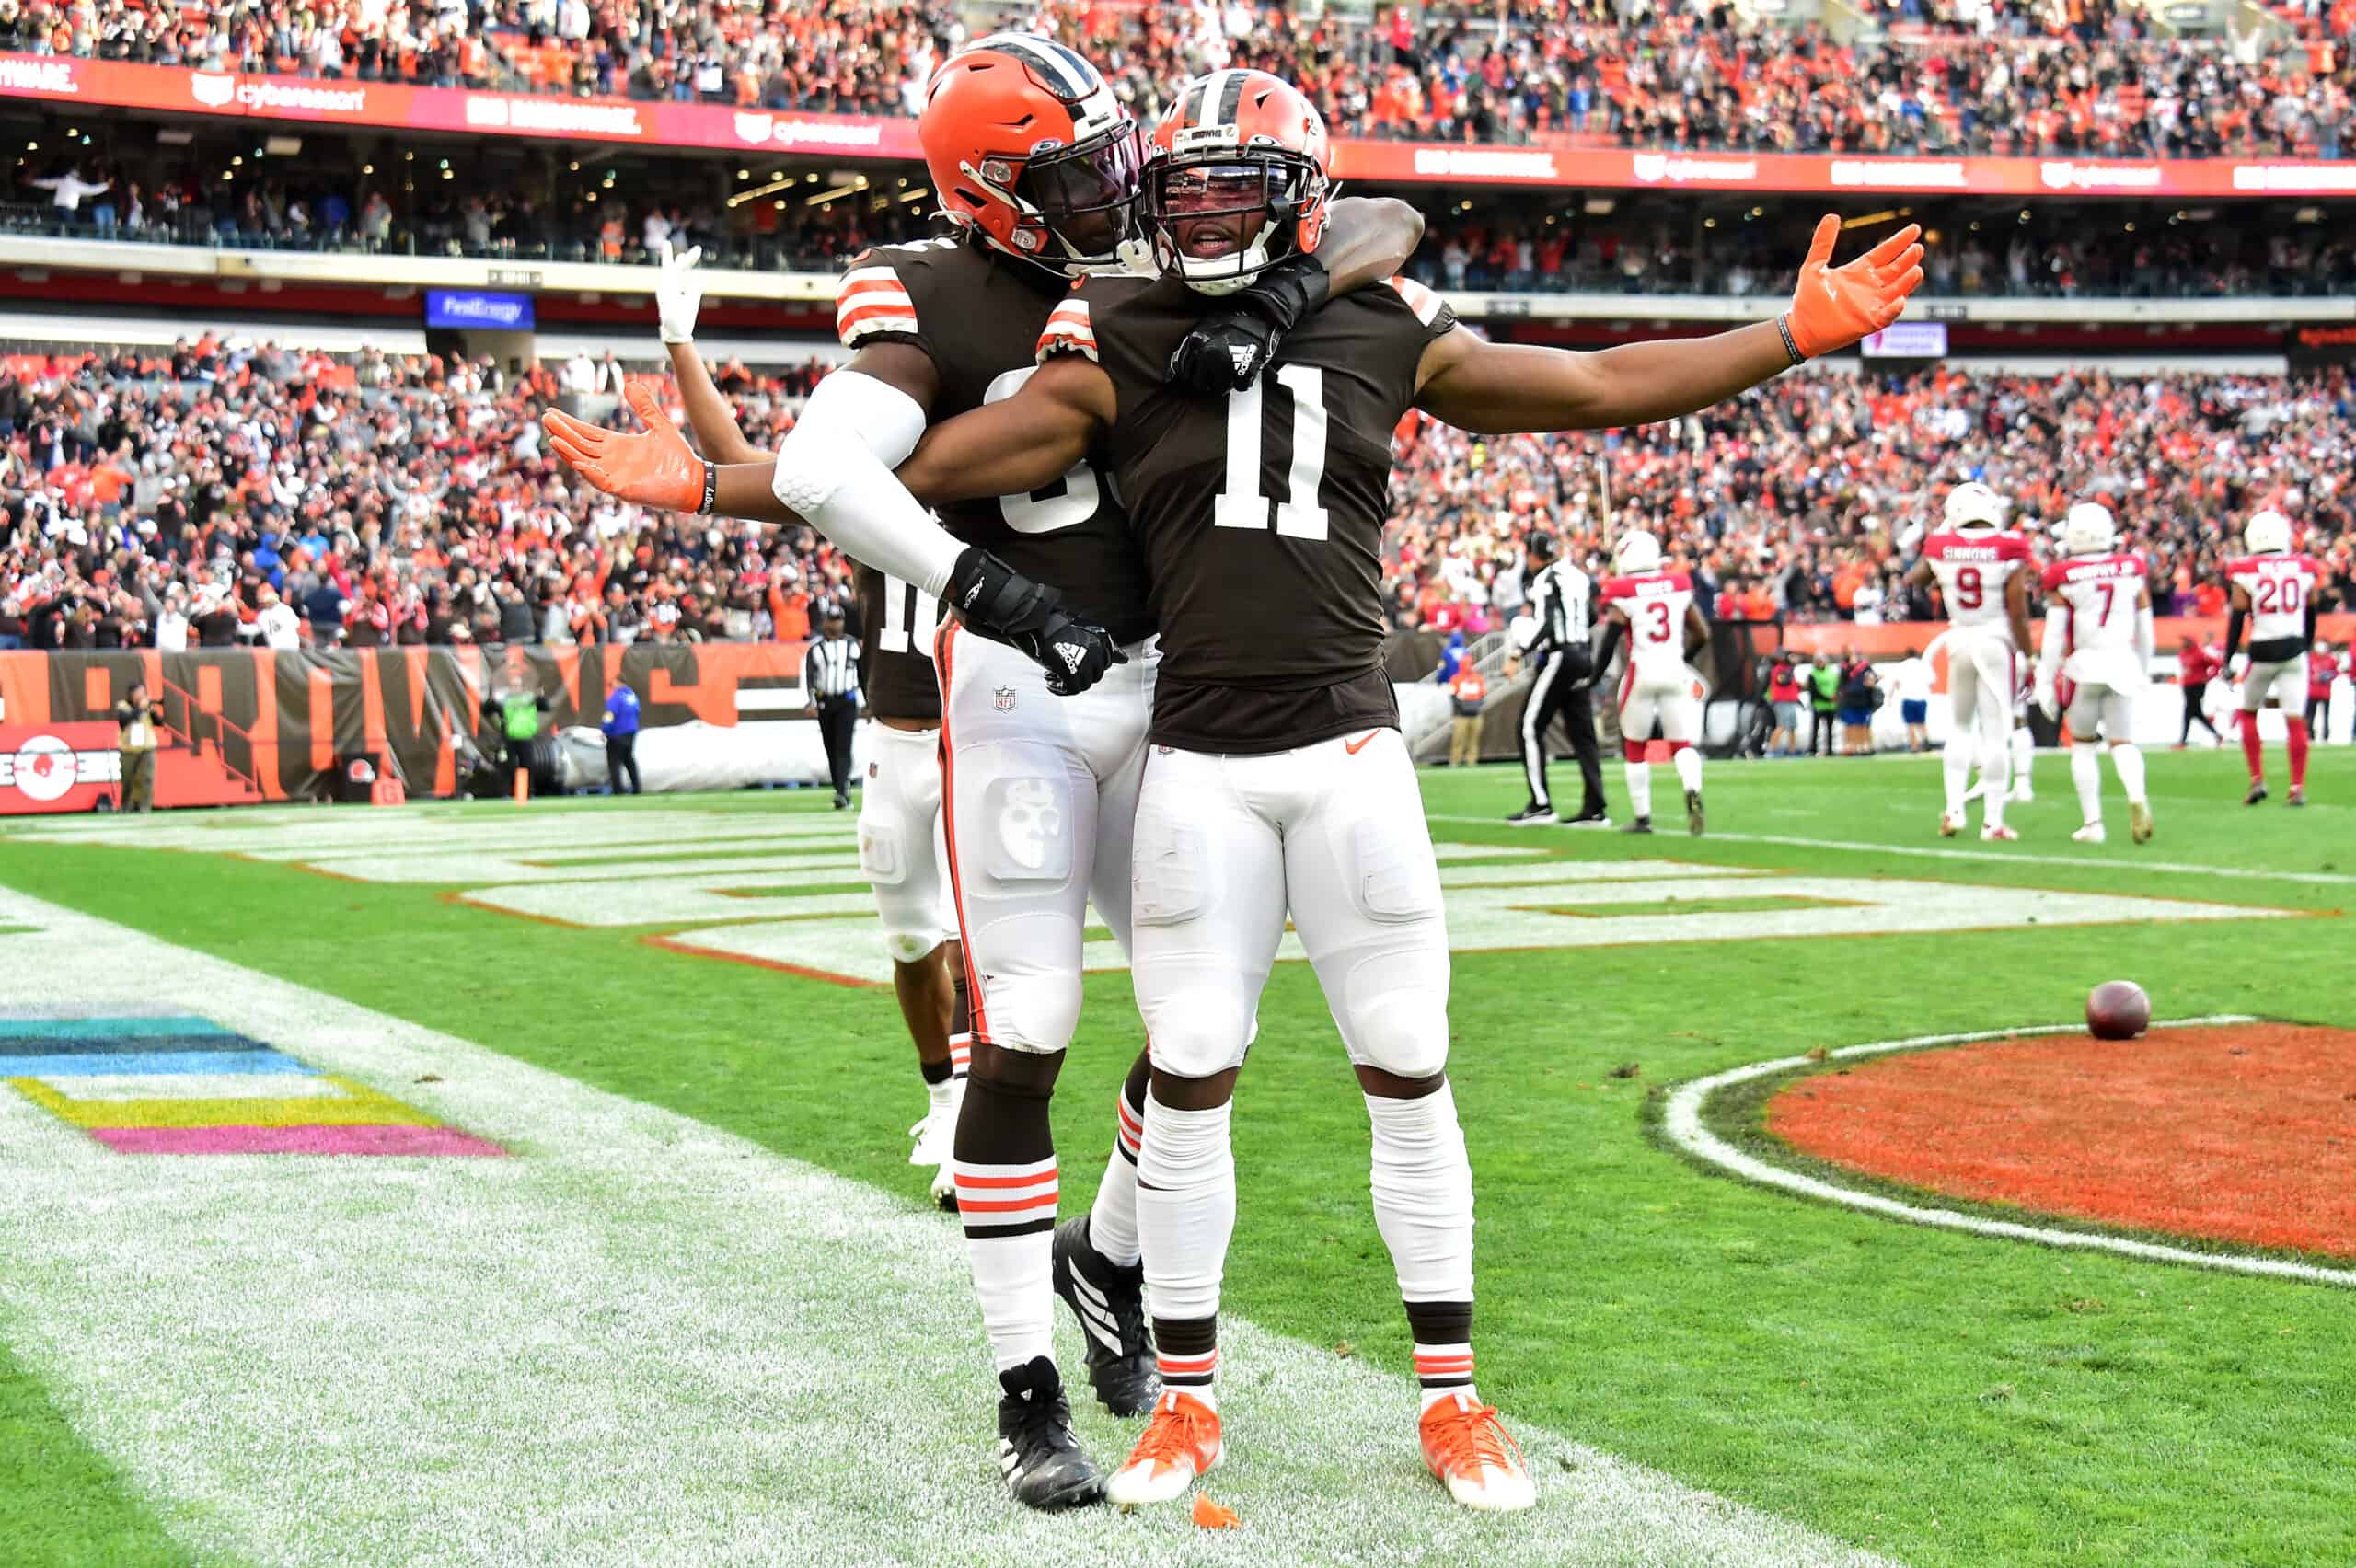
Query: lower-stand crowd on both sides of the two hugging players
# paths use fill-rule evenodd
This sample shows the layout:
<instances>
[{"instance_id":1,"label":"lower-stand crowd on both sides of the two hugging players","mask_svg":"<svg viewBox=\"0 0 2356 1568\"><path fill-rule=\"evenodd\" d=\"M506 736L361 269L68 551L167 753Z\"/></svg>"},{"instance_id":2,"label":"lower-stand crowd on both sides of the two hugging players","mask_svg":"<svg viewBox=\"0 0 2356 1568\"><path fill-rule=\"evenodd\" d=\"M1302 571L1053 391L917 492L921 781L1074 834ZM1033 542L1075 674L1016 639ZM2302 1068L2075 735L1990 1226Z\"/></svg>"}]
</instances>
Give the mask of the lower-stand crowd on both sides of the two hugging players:
<instances>
[{"instance_id":1,"label":"lower-stand crowd on both sides of the two hugging players","mask_svg":"<svg viewBox=\"0 0 2356 1568\"><path fill-rule=\"evenodd\" d=\"M610 398L610 353L497 365L297 356L196 339L170 356L0 370L0 647L801 638L848 591L808 530L695 525L584 490L540 445L563 396ZM775 440L820 365L719 372ZM2160 610L2210 612L2241 518L2281 506L2356 607L2356 388L2309 379L1786 377L1642 431L1475 438L1402 428L1388 593L1399 629L1487 631L1548 527L1597 565L1654 527L1710 610L1908 619L1899 586L1955 478L2024 523L2102 494L2151 556ZM283 610L280 610L283 605Z\"/></svg>"}]
</instances>

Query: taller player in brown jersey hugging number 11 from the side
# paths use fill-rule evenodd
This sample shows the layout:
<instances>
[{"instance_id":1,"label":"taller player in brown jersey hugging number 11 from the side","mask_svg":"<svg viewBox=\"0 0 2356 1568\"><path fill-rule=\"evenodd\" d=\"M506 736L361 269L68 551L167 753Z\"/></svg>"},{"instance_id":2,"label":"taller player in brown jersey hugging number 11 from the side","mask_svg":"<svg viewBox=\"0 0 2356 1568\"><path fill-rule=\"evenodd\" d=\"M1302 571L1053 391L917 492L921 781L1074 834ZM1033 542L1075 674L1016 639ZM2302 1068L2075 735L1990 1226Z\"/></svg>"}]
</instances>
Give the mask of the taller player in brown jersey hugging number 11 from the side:
<instances>
[{"instance_id":1,"label":"taller player in brown jersey hugging number 11 from the side","mask_svg":"<svg viewBox=\"0 0 2356 1568\"><path fill-rule=\"evenodd\" d=\"M1119 1097L1096 1205L1063 1227L1048 1130L1048 1092L1079 1019L1091 895L1124 949L1131 935L1129 836L1157 666L1145 570L1084 452L1020 492L942 506L949 532L924 513L935 497L919 504L888 469L926 419L1013 396L1072 278L1119 266L1138 146L1096 68L1030 35L985 38L945 61L919 137L961 235L853 264L836 299L853 360L820 381L775 459L707 464L643 393L631 398L643 436L561 414L549 433L603 490L679 511L808 518L855 558L947 591L957 607L938 645L942 805L973 1052L952 1172L1006 1389L1006 1483L1027 1504L1065 1507L1093 1502L1103 1474L1070 1434L1048 1342L1053 1293L1079 1316L1107 1408L1136 1413L1157 1391L1136 1238L1145 1059ZM1414 250L1421 217L1402 202L1348 207L1317 257L1291 257L1190 323L1162 374L1223 393L1329 292L1381 285ZM1034 579L1070 584L1081 603L1055 607L1063 622L1048 624ZM1006 603L1023 612L1013 626ZM1044 671L1032 662L1041 657Z\"/></svg>"}]
</instances>

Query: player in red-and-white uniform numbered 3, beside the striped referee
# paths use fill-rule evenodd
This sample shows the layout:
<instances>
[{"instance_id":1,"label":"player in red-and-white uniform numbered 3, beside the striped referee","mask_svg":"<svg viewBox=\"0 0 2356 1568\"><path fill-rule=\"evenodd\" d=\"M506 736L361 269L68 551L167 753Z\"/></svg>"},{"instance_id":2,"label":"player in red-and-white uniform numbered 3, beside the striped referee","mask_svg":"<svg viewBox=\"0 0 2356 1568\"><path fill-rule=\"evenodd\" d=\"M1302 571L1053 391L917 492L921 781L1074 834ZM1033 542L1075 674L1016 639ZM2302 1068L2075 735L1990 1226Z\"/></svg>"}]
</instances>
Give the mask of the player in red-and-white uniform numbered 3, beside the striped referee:
<instances>
[{"instance_id":1,"label":"player in red-and-white uniform numbered 3, beside the striped referee","mask_svg":"<svg viewBox=\"0 0 2356 1568\"><path fill-rule=\"evenodd\" d=\"M1635 530L1612 551L1604 582L1604 640L1595 669L1612 664L1621 636L1628 638L1628 671L1621 676L1621 756L1628 765L1630 833L1652 831L1652 763L1644 746L1659 730L1668 760L1685 784L1685 826L1699 833L1701 817L1701 680L1687 659L1710 640L1710 626L1694 603L1689 572L1661 570L1661 542Z\"/></svg>"}]
</instances>

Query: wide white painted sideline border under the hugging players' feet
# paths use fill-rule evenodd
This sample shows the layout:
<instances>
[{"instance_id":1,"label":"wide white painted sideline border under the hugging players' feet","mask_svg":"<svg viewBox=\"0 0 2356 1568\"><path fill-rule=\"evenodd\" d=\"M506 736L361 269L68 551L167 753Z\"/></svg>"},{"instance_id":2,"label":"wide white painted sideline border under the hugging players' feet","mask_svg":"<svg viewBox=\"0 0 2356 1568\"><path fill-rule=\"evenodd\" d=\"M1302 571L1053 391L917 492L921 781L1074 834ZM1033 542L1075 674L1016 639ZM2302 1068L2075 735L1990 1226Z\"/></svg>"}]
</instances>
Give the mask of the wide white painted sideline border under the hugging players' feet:
<instances>
[{"instance_id":1,"label":"wide white painted sideline border under the hugging players' feet","mask_svg":"<svg viewBox=\"0 0 2356 1568\"><path fill-rule=\"evenodd\" d=\"M1538 1509L1470 1514L1423 1471L1409 1377L1235 1316L1244 1528L1027 1514L954 1220L5 888L0 918L42 928L9 937L16 1010L198 1010L516 1156L123 1156L0 1090L0 1326L196 1556L1885 1561L1527 1424ZM1077 1403L1124 1453L1136 1422Z\"/></svg>"}]
</instances>

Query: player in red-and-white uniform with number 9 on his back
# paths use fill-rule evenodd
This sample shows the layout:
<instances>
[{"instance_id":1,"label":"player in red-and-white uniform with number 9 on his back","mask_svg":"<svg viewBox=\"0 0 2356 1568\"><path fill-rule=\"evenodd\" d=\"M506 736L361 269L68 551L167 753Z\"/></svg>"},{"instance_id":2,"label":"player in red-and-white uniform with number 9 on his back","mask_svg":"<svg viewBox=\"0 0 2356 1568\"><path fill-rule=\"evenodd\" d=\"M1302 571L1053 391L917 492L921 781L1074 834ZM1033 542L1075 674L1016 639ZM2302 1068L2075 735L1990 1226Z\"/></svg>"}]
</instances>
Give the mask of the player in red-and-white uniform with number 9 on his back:
<instances>
[{"instance_id":1,"label":"player in red-and-white uniform with number 9 on his back","mask_svg":"<svg viewBox=\"0 0 2356 1568\"><path fill-rule=\"evenodd\" d=\"M1981 838L2010 841L2005 798L2012 789L2012 702L2029 645L2029 539L2003 532L2005 501L1986 485L1946 494L1944 527L1922 544L1906 574L1911 586L1939 584L1946 605L1946 697L1955 727L1946 739L1946 815L1939 833L1963 831L1965 782L1979 756Z\"/></svg>"}]
</instances>

